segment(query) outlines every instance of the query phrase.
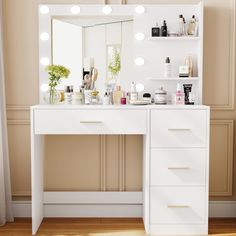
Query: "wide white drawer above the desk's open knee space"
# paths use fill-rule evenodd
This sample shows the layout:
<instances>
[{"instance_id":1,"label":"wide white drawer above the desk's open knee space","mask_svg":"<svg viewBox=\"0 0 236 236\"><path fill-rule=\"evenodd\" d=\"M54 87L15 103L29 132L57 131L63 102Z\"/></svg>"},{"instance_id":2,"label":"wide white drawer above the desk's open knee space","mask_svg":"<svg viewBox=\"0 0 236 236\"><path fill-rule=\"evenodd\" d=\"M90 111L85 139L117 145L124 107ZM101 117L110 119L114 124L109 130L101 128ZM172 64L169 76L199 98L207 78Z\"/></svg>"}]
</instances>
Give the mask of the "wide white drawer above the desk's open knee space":
<instances>
[{"instance_id":1,"label":"wide white drawer above the desk's open knee space","mask_svg":"<svg viewBox=\"0 0 236 236\"><path fill-rule=\"evenodd\" d=\"M36 134L145 134L143 110L35 110Z\"/></svg>"}]
</instances>

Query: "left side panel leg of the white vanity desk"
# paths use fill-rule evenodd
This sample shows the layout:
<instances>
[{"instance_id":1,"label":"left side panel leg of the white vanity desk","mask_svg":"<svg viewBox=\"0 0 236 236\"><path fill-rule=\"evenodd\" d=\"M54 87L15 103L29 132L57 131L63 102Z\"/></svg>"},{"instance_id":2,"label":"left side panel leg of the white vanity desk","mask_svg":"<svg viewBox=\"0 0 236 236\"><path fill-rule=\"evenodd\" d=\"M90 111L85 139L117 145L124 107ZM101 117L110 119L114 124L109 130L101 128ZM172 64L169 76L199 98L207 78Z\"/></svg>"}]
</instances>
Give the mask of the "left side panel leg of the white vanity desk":
<instances>
[{"instance_id":1,"label":"left side panel leg of the white vanity desk","mask_svg":"<svg viewBox=\"0 0 236 236\"><path fill-rule=\"evenodd\" d=\"M31 131L32 132L32 131ZM32 234L43 220L44 136L31 133Z\"/></svg>"}]
</instances>

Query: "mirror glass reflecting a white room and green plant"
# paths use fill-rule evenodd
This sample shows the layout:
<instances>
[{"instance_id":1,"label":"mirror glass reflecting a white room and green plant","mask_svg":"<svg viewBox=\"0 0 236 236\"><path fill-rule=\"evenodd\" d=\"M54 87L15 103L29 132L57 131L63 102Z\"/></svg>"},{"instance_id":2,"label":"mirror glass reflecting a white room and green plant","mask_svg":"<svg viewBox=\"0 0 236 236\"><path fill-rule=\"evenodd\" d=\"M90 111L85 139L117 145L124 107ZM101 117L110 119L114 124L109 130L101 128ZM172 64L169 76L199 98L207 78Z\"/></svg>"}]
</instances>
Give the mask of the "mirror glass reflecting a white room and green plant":
<instances>
[{"instance_id":1,"label":"mirror glass reflecting a white room and green plant","mask_svg":"<svg viewBox=\"0 0 236 236\"><path fill-rule=\"evenodd\" d=\"M88 88L103 92L107 84L129 88L133 73L133 16L77 16L52 19L52 62L71 71L59 89L83 83L86 71L97 76ZM94 82L94 84L93 84Z\"/></svg>"}]
</instances>

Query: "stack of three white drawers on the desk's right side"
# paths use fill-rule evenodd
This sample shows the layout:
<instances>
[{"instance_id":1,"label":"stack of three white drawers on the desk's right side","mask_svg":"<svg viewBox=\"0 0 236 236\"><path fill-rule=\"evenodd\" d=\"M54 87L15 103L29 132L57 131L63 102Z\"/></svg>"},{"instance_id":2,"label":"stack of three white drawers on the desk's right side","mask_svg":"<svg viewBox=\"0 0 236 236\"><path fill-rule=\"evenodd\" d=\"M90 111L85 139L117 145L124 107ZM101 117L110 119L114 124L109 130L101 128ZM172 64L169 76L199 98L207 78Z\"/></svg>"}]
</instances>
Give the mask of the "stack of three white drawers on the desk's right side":
<instances>
[{"instance_id":1,"label":"stack of three white drawers on the desk's right side","mask_svg":"<svg viewBox=\"0 0 236 236\"><path fill-rule=\"evenodd\" d=\"M207 234L208 110L151 110L153 234Z\"/></svg>"}]
</instances>

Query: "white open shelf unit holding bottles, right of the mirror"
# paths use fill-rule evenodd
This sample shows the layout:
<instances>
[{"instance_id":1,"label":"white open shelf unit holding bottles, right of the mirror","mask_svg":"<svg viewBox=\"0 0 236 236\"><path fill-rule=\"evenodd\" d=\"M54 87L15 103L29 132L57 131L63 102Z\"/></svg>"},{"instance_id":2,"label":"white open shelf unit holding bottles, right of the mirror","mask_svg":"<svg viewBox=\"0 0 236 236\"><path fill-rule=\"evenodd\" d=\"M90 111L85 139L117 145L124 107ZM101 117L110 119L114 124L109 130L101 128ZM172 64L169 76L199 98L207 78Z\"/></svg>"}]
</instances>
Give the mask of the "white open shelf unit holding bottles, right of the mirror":
<instances>
[{"instance_id":1,"label":"white open shelf unit holding bottles, right of the mirror","mask_svg":"<svg viewBox=\"0 0 236 236\"><path fill-rule=\"evenodd\" d=\"M148 8L148 7L147 7ZM162 25L166 20L168 30L178 32L179 15L183 14L187 23L192 15L196 16L198 33L196 36L151 37L151 29L156 23ZM142 41L134 40L134 58L144 59L142 66L135 66L135 80L144 83L145 92L154 94L160 86L167 91L168 100L176 92L177 83L192 84L196 105L202 104L203 81L203 3L186 5L155 5L148 8L148 14L135 16L134 34L143 33ZM185 64L187 56L193 60L193 77L179 78L179 66ZM170 58L171 78L165 78L164 62Z\"/></svg>"}]
</instances>

